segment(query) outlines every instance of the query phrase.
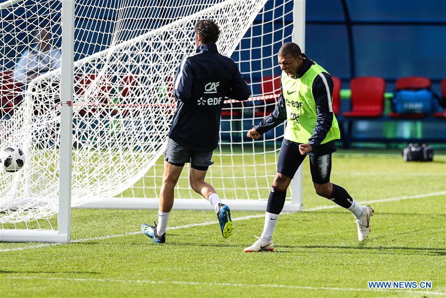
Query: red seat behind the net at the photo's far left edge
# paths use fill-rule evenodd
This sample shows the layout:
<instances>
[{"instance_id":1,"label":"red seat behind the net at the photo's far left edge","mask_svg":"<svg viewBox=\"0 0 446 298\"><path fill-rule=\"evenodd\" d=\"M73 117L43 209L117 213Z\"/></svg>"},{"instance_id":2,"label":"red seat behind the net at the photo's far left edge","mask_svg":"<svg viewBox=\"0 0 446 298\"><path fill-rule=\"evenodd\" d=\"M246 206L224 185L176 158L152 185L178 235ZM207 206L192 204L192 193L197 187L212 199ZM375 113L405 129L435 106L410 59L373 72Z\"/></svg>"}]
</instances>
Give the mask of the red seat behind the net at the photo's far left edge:
<instances>
[{"instance_id":1,"label":"red seat behind the net at the photo's far left edge","mask_svg":"<svg viewBox=\"0 0 446 298\"><path fill-rule=\"evenodd\" d=\"M12 72L0 73L0 117L12 115L12 108L21 100L21 88L14 81Z\"/></svg>"}]
</instances>

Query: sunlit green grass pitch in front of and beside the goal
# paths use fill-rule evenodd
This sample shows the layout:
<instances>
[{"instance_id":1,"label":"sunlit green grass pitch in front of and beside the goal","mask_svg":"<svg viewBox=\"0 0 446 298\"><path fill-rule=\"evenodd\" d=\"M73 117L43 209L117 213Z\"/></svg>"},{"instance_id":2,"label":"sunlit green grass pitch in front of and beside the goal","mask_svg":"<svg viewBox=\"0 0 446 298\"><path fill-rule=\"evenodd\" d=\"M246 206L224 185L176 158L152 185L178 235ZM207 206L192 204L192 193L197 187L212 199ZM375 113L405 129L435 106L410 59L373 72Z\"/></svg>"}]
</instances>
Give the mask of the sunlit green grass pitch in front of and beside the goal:
<instances>
[{"instance_id":1,"label":"sunlit green grass pitch in front of and beside the goal","mask_svg":"<svg viewBox=\"0 0 446 298\"><path fill-rule=\"evenodd\" d=\"M408 163L398 151L334 154L331 181L375 201L363 243L352 215L314 193L308 160L304 179L307 211L279 217L274 252L243 252L262 212L233 211L240 220L224 239L213 212L174 210L177 228L155 245L139 232L155 210L74 209L74 243L0 243L0 297L445 297L446 155ZM368 281L432 289L376 291Z\"/></svg>"}]
</instances>

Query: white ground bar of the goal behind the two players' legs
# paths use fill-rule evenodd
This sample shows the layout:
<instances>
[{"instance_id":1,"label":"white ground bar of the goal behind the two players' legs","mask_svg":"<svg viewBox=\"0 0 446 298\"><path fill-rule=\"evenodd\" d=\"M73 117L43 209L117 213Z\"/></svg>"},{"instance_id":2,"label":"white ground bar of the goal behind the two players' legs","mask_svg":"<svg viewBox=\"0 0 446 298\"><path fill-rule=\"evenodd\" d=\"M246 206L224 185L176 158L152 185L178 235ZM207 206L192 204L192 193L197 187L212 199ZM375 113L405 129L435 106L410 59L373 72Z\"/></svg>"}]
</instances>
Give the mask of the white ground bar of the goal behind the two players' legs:
<instances>
[{"instance_id":1,"label":"white ground bar of the goal behind the two players' legs","mask_svg":"<svg viewBox=\"0 0 446 298\"><path fill-rule=\"evenodd\" d=\"M143 198L111 198L99 202L87 203L75 208L95 209L156 209L158 199ZM267 200L222 200L233 211L265 211ZM205 199L175 199L173 209L177 210L208 210L213 211L212 205ZM302 211L302 204L285 202L284 212Z\"/></svg>"}]
</instances>

